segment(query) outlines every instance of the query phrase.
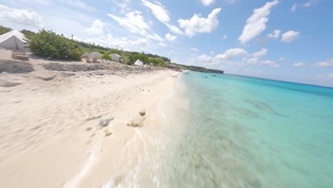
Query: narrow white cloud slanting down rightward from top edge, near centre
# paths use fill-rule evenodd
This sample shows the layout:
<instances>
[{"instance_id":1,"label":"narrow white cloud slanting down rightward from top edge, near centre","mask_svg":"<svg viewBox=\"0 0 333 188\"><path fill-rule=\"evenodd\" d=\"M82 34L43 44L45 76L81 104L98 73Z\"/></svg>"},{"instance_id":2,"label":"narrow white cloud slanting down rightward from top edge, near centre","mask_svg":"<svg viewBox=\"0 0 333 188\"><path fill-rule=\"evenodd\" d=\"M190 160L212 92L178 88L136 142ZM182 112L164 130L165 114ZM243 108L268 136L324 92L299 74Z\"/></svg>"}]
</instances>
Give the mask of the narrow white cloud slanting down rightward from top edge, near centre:
<instances>
[{"instance_id":1,"label":"narrow white cloud slanting down rightward from top edge, near centre","mask_svg":"<svg viewBox=\"0 0 333 188\"><path fill-rule=\"evenodd\" d=\"M162 4L153 4L150 1L147 0L142 0L142 3L144 4L144 6L147 6L148 9L150 9L152 11L152 14L154 14L154 16L161 21L162 23L164 23L172 33L176 33L176 34L183 34L182 31L180 31L179 28L177 28L176 26L171 25L169 22L171 21L170 19L170 13L169 11L166 11L166 9L164 8L164 6Z\"/></svg>"}]
</instances>

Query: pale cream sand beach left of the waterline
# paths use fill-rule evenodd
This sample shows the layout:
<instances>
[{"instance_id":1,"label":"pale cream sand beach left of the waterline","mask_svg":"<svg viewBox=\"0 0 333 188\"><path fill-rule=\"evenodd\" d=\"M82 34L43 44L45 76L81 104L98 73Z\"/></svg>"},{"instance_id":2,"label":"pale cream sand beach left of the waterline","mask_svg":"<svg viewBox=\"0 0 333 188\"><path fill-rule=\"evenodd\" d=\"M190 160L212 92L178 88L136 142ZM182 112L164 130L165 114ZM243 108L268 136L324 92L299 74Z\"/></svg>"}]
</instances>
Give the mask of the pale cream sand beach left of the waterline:
<instances>
[{"instance_id":1,"label":"pale cream sand beach left of the waterline","mask_svg":"<svg viewBox=\"0 0 333 188\"><path fill-rule=\"evenodd\" d=\"M121 184L127 175L121 173L154 147L149 139L161 130L159 102L179 74L123 65L85 68L91 64L43 58L4 68L10 52L0 50L0 57L0 70L7 70L0 75L1 187ZM53 71L57 64L71 69ZM142 109L143 127L127 126L142 118ZM110 125L99 126L108 118Z\"/></svg>"}]
</instances>

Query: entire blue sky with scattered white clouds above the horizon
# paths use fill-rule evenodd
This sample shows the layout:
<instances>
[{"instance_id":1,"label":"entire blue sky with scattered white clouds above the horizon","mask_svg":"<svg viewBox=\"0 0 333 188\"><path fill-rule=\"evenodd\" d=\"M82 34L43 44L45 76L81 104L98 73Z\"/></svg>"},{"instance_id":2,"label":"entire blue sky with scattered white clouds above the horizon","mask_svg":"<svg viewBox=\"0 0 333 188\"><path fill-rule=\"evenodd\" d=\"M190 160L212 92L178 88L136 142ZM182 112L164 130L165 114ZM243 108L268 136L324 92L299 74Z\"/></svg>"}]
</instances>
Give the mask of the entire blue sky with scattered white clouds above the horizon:
<instances>
[{"instance_id":1,"label":"entire blue sky with scattered white clouds above the horizon","mask_svg":"<svg viewBox=\"0 0 333 188\"><path fill-rule=\"evenodd\" d=\"M333 87L330 0L0 0L0 25Z\"/></svg>"}]
</instances>

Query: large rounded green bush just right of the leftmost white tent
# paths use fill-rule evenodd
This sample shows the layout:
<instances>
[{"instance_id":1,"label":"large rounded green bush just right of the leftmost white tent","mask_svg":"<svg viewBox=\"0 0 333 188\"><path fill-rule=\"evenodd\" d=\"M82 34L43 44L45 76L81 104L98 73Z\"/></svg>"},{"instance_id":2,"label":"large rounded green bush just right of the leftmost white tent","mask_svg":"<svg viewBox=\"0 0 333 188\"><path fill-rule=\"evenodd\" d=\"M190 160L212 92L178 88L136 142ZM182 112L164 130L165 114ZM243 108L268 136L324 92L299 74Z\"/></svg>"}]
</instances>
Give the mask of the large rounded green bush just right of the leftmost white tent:
<instances>
[{"instance_id":1,"label":"large rounded green bush just right of the leftmost white tent","mask_svg":"<svg viewBox=\"0 0 333 188\"><path fill-rule=\"evenodd\" d=\"M27 43L33 53L46 58L80 61L83 54L78 43L44 29L29 37Z\"/></svg>"}]
</instances>

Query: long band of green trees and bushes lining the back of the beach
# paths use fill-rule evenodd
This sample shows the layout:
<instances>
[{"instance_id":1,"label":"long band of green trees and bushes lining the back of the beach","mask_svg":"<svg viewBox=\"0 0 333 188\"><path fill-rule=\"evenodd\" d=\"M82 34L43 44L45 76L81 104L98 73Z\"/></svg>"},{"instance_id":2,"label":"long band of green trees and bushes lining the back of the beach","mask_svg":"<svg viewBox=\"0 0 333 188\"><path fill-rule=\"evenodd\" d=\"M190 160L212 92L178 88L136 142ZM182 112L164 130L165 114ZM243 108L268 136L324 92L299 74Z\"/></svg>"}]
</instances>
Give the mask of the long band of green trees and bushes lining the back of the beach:
<instances>
[{"instance_id":1,"label":"long band of green trees and bushes lining the back of the beach","mask_svg":"<svg viewBox=\"0 0 333 188\"><path fill-rule=\"evenodd\" d=\"M11 28L0 26L0 35L11 31ZM120 62L126 65L132 65L141 60L144 64L154 66L166 66L175 70L185 69L190 71L199 71L204 73L223 73L221 70L214 70L198 66L184 66L176 63L170 63L170 59L151 53L139 53L136 51L122 51L115 48L106 48L95 43L85 43L83 41L73 41L65 38L62 34L58 35L52 31L41 30L38 33L23 29L21 31L27 38L27 43L31 51L37 56L51 57L65 60L80 61L83 53L98 51L103 54L102 58L112 60L110 54L117 53L122 56Z\"/></svg>"}]
</instances>

